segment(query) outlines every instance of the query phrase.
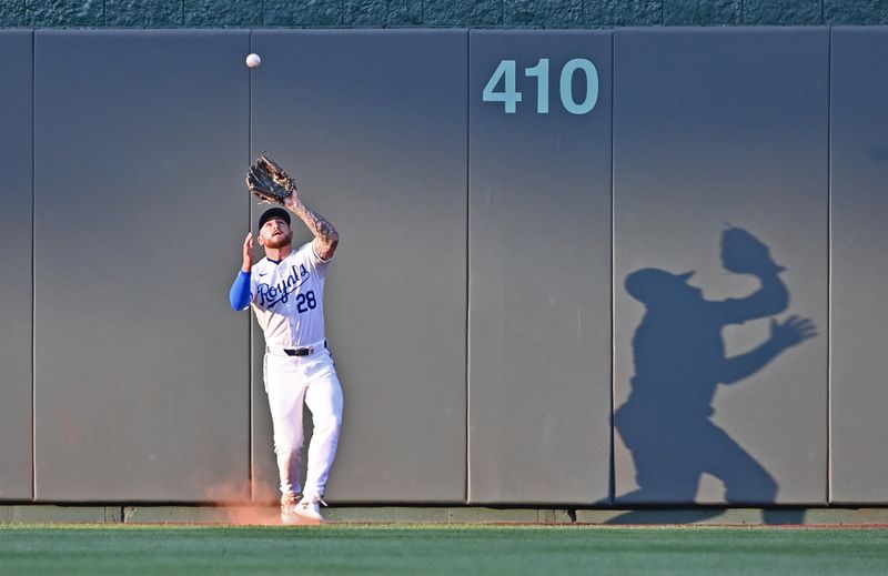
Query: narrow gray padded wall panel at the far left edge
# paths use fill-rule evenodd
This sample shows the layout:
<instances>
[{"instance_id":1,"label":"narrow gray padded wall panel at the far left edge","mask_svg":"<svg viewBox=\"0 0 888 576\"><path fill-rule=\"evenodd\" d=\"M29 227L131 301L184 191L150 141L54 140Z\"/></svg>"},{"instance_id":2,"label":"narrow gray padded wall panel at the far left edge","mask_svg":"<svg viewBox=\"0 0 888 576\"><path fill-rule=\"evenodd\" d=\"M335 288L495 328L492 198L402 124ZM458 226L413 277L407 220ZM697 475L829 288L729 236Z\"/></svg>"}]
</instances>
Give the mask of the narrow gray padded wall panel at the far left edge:
<instances>
[{"instance_id":1,"label":"narrow gray padded wall panel at the far left edge","mask_svg":"<svg viewBox=\"0 0 888 576\"><path fill-rule=\"evenodd\" d=\"M32 497L31 70L32 32L0 32L0 499Z\"/></svg>"}]
</instances>

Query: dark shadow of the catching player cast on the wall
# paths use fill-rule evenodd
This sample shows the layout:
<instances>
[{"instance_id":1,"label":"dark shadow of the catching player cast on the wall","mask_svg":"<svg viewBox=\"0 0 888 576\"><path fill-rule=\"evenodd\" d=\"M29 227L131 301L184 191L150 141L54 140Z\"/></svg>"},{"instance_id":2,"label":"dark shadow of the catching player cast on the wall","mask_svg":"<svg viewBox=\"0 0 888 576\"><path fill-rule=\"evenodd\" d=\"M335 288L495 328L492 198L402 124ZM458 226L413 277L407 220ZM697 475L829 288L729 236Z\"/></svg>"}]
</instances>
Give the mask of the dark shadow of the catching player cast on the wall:
<instances>
[{"instance_id":1,"label":"dark shadow of the catching player cast on the wall","mask_svg":"<svg viewBox=\"0 0 888 576\"><path fill-rule=\"evenodd\" d=\"M615 413L615 425L632 453L638 489L620 504L689 504L700 477L708 473L725 485L730 505L776 502L777 482L710 417L720 384L735 385L760 371L780 353L816 335L808 320L771 319L770 336L755 350L726 357L722 331L729 324L774 316L789 306L780 280L784 270L768 247L748 232L729 229L723 235L722 257L735 273L753 274L760 287L743 299L710 301L688 283L693 272L673 274L643 269L625 281L627 292L646 313L633 337L635 375L628 400ZM672 522L697 522L720 511L674 512ZM678 516L677 516L678 515ZM616 524L644 523L650 513L633 511ZM800 512L768 509L764 521L794 524Z\"/></svg>"}]
</instances>

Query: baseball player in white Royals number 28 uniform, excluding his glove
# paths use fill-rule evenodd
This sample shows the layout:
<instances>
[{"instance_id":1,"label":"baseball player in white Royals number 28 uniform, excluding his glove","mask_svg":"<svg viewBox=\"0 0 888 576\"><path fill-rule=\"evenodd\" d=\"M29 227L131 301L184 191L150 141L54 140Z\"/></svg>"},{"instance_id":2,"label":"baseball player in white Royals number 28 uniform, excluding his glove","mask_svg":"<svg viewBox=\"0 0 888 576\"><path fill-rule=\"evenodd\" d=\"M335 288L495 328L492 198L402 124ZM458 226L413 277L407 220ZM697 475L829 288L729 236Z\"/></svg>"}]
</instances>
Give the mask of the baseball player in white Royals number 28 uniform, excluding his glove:
<instances>
[{"instance_id":1,"label":"baseball player in white Royals number 28 uniform, excluding his glove","mask_svg":"<svg viewBox=\"0 0 888 576\"><path fill-rule=\"evenodd\" d=\"M243 266L231 287L231 306L240 311L252 304L265 335L263 375L281 476L281 521L320 523L320 504L326 505L321 498L342 424L342 388L324 337L324 280L339 233L303 204L295 190L284 206L305 223L314 240L293 250L287 211L265 211L258 234L265 257L254 263L253 234L246 234ZM303 403L312 412L314 428L305 485L301 486Z\"/></svg>"}]
</instances>

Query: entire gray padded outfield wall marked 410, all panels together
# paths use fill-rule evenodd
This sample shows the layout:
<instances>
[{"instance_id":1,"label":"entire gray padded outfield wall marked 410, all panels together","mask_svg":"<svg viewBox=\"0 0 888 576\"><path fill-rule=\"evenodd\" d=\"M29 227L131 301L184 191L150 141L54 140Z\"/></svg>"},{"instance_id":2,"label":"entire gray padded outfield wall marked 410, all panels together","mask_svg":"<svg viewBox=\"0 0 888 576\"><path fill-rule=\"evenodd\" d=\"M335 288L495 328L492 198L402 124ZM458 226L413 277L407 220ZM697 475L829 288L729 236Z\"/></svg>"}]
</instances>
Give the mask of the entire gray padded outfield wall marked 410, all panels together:
<instances>
[{"instance_id":1,"label":"entire gray padded outfield wall marked 410, all panels together","mask_svg":"<svg viewBox=\"0 0 888 576\"><path fill-rule=\"evenodd\" d=\"M226 300L261 210L243 174L269 152L342 235L330 501L888 502L888 29L0 47L0 501L275 497L262 335ZM743 300L759 284L725 269L730 226L788 301ZM746 304L725 321L652 284L655 310L626 287L650 267ZM776 350L790 315L818 334Z\"/></svg>"}]
</instances>

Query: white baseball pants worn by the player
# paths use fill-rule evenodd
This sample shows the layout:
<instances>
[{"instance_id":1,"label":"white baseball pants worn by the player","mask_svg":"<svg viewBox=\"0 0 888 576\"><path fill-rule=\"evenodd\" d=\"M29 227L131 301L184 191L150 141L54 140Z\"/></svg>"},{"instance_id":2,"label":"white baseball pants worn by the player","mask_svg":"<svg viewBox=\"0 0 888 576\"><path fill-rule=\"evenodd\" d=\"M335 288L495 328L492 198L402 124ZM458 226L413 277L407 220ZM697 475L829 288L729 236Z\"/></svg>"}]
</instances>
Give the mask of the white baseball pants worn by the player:
<instances>
[{"instance_id":1,"label":"white baseball pants worn by the player","mask_svg":"<svg viewBox=\"0 0 888 576\"><path fill-rule=\"evenodd\" d=\"M310 356L265 354L264 377L281 493L323 496L342 426L342 387L330 351L324 348ZM303 404L309 406L314 423L304 491L299 482Z\"/></svg>"}]
</instances>

